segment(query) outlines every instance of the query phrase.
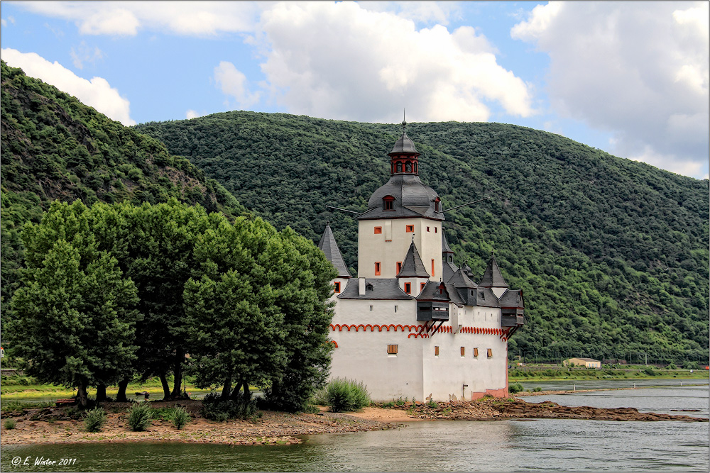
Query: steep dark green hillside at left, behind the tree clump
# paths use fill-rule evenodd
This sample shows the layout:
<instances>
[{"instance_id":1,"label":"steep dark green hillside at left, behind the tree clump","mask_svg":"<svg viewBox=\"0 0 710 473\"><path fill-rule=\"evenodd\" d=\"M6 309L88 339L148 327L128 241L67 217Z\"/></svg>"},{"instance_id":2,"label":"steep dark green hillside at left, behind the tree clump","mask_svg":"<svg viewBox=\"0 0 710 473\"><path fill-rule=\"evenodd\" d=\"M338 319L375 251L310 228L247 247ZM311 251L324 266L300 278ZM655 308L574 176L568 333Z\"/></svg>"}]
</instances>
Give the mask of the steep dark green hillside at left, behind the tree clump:
<instances>
[{"instance_id":1,"label":"steep dark green hillside at left, behind the tree clump","mask_svg":"<svg viewBox=\"0 0 710 473\"><path fill-rule=\"evenodd\" d=\"M175 197L227 215L244 213L228 191L155 138L137 133L21 69L1 64L2 311L23 260L19 235L51 201Z\"/></svg>"}]
</instances>

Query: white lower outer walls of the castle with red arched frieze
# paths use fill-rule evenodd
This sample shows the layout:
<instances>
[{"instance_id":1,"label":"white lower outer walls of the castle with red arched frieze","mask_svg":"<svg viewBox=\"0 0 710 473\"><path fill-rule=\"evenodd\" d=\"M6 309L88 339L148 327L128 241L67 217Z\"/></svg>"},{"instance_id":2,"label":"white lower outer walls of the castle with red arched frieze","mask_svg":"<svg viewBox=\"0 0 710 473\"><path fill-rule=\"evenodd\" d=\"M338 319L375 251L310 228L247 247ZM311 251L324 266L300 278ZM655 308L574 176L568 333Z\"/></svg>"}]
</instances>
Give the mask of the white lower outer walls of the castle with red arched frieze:
<instances>
[{"instance_id":1,"label":"white lower outer walls of the castle with red arched frieze","mask_svg":"<svg viewBox=\"0 0 710 473\"><path fill-rule=\"evenodd\" d=\"M435 401L447 401L452 394L458 399L485 394L507 396L507 343L499 335L500 309L456 308L452 304L450 313L449 323L442 325L445 332L415 338L410 334L418 330L410 328L420 325L416 320L416 301L338 300L332 321L336 328L331 337L337 348L332 356L331 377L364 382L375 401L399 397L424 401L430 394ZM366 325L395 328L380 331ZM461 331L455 333L458 325ZM469 333L474 328L498 331ZM387 345L398 345L397 355L388 355ZM465 348L464 357L461 347ZM479 353L474 357L476 347ZM487 356L489 348L491 358Z\"/></svg>"}]
</instances>

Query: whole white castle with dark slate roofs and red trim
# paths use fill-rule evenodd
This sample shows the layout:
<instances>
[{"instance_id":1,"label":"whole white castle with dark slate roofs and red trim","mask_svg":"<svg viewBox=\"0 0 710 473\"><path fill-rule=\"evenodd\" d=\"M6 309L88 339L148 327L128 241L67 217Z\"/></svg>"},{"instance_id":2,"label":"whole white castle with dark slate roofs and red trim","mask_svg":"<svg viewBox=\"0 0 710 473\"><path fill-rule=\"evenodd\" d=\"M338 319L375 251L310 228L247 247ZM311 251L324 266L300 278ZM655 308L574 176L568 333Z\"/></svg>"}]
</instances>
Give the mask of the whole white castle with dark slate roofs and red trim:
<instances>
[{"instance_id":1,"label":"whole white castle with dark slate roofs and red trim","mask_svg":"<svg viewBox=\"0 0 710 473\"><path fill-rule=\"evenodd\" d=\"M389 181L357 216L358 277L329 225L318 245L338 271L331 377L364 382L374 401L507 397L523 291L508 287L492 255L479 284L468 265L454 265L447 209L421 181L406 130L388 155Z\"/></svg>"}]
</instances>

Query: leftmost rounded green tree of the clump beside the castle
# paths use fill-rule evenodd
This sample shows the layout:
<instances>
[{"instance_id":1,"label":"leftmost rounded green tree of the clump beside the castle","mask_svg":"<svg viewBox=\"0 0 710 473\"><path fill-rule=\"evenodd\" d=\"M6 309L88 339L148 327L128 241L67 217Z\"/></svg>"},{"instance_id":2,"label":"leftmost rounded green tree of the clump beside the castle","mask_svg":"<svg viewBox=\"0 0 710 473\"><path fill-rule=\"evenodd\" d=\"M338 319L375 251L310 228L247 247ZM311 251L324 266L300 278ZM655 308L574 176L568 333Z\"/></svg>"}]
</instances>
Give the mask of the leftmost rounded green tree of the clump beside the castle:
<instances>
[{"instance_id":1,"label":"leftmost rounded green tree of the clump beside the castle","mask_svg":"<svg viewBox=\"0 0 710 473\"><path fill-rule=\"evenodd\" d=\"M85 407L89 386L106 386L130 372L137 348L136 288L107 252L82 254L58 240L43 260L34 257L13 295L6 333L28 374L77 386Z\"/></svg>"}]
</instances>

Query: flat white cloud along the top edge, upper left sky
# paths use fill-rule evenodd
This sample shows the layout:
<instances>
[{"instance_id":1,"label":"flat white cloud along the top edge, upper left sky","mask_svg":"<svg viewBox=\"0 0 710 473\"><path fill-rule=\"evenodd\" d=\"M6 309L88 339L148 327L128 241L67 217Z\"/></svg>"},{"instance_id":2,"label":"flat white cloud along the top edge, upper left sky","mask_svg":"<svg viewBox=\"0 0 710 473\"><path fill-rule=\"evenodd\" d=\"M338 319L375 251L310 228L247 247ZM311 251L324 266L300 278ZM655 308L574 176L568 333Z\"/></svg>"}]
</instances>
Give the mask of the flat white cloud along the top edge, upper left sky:
<instances>
[{"instance_id":1,"label":"flat white cloud along the top edge, upper left sky","mask_svg":"<svg viewBox=\"0 0 710 473\"><path fill-rule=\"evenodd\" d=\"M229 1L69 1L19 2L17 6L74 21L85 35L134 36L138 30L167 30L180 35L209 36L253 30L264 6Z\"/></svg>"}]
</instances>

